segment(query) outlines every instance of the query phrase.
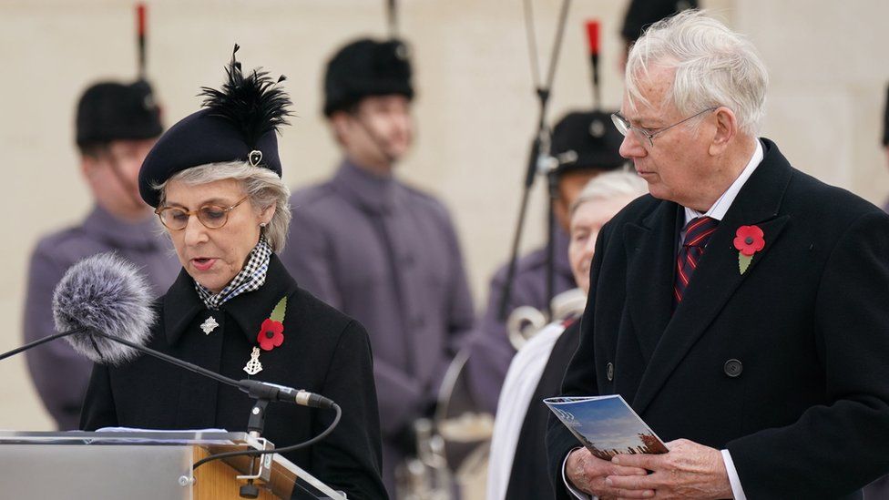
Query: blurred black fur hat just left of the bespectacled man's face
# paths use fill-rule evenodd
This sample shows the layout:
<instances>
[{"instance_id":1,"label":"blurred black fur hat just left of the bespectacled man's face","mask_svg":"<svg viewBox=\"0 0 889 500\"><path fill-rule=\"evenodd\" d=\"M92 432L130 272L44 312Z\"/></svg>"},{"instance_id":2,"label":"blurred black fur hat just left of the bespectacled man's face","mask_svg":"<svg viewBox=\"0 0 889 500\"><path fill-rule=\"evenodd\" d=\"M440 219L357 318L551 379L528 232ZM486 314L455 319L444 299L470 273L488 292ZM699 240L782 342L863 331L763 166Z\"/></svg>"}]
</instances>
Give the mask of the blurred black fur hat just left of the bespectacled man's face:
<instances>
[{"instance_id":1,"label":"blurred black fur hat just left of the bespectacled man's face","mask_svg":"<svg viewBox=\"0 0 889 500\"><path fill-rule=\"evenodd\" d=\"M559 161L557 175L572 170L613 170L627 162L618 153L623 136L611 122L610 113L568 113L553 129L550 154Z\"/></svg>"}]
</instances>

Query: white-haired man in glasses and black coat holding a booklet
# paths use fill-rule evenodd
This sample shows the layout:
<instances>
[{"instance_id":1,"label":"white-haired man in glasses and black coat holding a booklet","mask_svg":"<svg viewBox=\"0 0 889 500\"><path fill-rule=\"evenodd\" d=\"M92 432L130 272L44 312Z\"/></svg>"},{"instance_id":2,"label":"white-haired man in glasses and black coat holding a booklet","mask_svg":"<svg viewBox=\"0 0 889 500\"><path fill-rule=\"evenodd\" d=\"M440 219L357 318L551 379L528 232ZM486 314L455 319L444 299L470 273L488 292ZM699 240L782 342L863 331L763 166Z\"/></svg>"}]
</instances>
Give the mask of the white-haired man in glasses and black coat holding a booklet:
<instances>
[{"instance_id":1,"label":"white-haired man in glasses and black coat holding a booklet","mask_svg":"<svg viewBox=\"0 0 889 500\"><path fill-rule=\"evenodd\" d=\"M630 51L615 123L649 183L603 228L563 393L618 393L667 454L550 419L560 498L856 498L889 470L889 216L757 138L767 73L700 12Z\"/></svg>"}]
</instances>

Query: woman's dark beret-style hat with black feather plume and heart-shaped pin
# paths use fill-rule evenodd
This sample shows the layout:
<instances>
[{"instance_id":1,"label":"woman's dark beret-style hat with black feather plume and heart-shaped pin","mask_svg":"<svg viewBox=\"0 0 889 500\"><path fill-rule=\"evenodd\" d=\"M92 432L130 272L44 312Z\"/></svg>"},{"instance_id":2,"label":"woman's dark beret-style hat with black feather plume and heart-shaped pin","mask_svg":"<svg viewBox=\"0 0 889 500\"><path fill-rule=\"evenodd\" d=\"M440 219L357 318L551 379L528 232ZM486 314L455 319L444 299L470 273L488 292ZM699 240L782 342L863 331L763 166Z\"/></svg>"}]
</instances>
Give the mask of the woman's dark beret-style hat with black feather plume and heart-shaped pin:
<instances>
[{"instance_id":1,"label":"woman's dark beret-style hat with black feather plume and heart-shaped pin","mask_svg":"<svg viewBox=\"0 0 889 500\"><path fill-rule=\"evenodd\" d=\"M284 77L275 82L259 70L245 77L234 54L226 73L220 90L201 87L204 109L170 127L142 162L139 194L148 205L160 202L154 186L181 170L209 163L245 161L281 177L276 134L291 115L290 98L277 85Z\"/></svg>"}]
</instances>

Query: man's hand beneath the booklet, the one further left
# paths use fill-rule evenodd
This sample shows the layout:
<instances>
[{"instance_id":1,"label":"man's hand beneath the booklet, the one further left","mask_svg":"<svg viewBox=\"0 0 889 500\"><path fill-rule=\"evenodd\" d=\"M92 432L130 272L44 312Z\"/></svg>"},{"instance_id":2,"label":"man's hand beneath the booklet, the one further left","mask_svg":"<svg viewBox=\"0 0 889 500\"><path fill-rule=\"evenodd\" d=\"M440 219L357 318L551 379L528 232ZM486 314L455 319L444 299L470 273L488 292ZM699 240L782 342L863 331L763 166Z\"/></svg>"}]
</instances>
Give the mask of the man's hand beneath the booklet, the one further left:
<instances>
[{"instance_id":1,"label":"man's hand beneath the booklet, the one further left","mask_svg":"<svg viewBox=\"0 0 889 500\"><path fill-rule=\"evenodd\" d=\"M649 473L639 467L613 464L593 456L587 448L577 448L568 454L565 474L571 485L578 490L606 499L618 496L618 489L605 484L606 477L644 476ZM651 498L654 496L654 491L634 491L631 492L631 495L633 496L628 496L628 498Z\"/></svg>"}]
</instances>

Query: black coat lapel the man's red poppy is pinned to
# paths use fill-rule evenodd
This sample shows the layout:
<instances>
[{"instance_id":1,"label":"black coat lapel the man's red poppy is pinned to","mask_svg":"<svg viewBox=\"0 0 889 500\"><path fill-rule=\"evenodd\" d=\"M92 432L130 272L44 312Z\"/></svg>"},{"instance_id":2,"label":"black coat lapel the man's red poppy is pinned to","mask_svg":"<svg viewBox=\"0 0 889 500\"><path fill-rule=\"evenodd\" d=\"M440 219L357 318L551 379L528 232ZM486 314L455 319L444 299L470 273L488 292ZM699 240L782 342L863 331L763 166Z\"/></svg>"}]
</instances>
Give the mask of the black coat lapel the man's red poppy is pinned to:
<instances>
[{"instance_id":1,"label":"black coat lapel the man's red poppy is pinned to","mask_svg":"<svg viewBox=\"0 0 889 500\"><path fill-rule=\"evenodd\" d=\"M768 258L789 219L786 215L779 217L779 213L792 168L771 141L763 139L763 142L765 157L713 233L682 303L662 331L649 359L633 401L638 413L645 411L669 374L707 331L741 283L757 271L761 260ZM753 256L750 268L741 274L733 240L739 227L749 225L757 225L763 231L765 247Z\"/></svg>"}]
</instances>

